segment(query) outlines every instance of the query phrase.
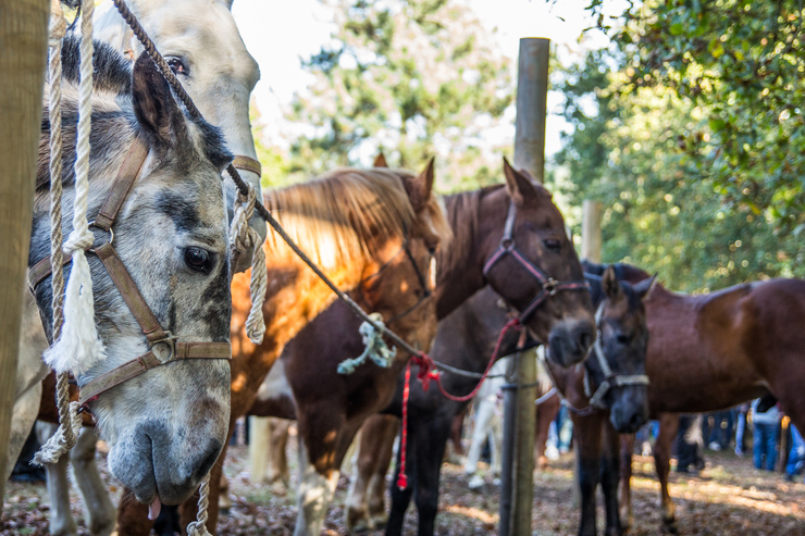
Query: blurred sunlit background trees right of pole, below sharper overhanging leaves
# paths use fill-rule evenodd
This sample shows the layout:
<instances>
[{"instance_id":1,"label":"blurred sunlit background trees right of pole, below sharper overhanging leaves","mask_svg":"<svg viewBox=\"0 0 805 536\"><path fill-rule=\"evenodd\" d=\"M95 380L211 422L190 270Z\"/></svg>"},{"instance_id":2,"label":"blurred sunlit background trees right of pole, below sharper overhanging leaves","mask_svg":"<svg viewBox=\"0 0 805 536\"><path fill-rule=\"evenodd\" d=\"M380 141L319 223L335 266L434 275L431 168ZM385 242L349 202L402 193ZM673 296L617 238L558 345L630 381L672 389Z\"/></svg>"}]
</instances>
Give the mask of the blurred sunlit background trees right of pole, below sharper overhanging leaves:
<instances>
[{"instance_id":1,"label":"blurred sunlit background trees right of pole, below sharper overhanging leaves","mask_svg":"<svg viewBox=\"0 0 805 536\"><path fill-rule=\"evenodd\" d=\"M570 173L572 204L598 199L606 207L604 260L659 271L669 287L689 291L802 274L796 237L768 213L726 198L688 147L708 144L702 107L670 87L636 87L628 60L593 51L559 84L574 132L556 163Z\"/></svg>"}]
</instances>

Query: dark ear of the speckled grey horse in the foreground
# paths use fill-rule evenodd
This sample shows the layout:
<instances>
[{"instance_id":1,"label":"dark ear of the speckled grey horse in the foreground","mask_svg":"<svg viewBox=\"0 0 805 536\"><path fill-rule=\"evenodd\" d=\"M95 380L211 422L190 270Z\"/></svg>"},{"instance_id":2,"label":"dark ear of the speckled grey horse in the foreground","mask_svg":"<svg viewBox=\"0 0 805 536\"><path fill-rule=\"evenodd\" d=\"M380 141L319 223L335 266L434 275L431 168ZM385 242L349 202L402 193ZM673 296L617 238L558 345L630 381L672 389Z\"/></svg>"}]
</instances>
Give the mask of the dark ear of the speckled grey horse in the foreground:
<instances>
[{"instance_id":1,"label":"dark ear of the speckled grey horse in the foreground","mask_svg":"<svg viewBox=\"0 0 805 536\"><path fill-rule=\"evenodd\" d=\"M132 99L140 126L159 144L176 147L177 136L185 133L185 119L168 82L146 52L134 64Z\"/></svg>"}]
</instances>

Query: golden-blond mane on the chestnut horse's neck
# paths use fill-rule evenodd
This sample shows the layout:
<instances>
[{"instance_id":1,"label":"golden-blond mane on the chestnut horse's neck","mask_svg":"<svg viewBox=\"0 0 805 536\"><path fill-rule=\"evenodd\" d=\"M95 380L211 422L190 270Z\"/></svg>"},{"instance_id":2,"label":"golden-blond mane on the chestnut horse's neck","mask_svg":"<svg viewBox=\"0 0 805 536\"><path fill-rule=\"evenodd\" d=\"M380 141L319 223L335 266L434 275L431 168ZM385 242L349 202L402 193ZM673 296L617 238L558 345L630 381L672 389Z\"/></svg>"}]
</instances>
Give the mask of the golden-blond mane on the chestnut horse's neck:
<instances>
[{"instance_id":1,"label":"golden-blond mane on the chestnut horse's neck","mask_svg":"<svg viewBox=\"0 0 805 536\"><path fill-rule=\"evenodd\" d=\"M385 240L403 237L416 220L399 172L343 169L267 192L265 208L317 264L330 269L369 262ZM434 200L435 202L435 200ZM274 255L293 251L270 229Z\"/></svg>"}]
</instances>

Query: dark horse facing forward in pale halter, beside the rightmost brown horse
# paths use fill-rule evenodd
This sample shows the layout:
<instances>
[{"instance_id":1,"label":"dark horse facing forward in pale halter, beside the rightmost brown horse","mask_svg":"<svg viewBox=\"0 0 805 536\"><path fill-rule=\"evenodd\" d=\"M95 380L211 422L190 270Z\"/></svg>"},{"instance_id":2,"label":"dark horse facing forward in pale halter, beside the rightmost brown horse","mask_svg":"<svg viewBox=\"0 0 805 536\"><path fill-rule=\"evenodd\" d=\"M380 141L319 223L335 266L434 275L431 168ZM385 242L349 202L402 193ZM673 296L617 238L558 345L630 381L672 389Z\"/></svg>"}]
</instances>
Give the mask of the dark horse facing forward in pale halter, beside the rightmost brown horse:
<instances>
[{"instance_id":1,"label":"dark horse facing forward in pale halter, beside the rightmost brown horse","mask_svg":"<svg viewBox=\"0 0 805 536\"><path fill-rule=\"evenodd\" d=\"M634 433L648 419L648 396L644 383L618 386L623 378L645 377L648 328L643 299L652 289L654 278L645 272L624 264L606 266L587 261L582 263L589 277L600 278L592 287L594 301L606 296L600 315L617 311L631 311L621 322L600 322L602 349L609 356L619 356L612 361L611 373L605 374L596 359L589 359L585 371L561 369L548 362L548 369L557 389L565 396L571 409L573 438L575 442L577 475L581 488L581 521L579 534L594 536L595 491L600 483L605 498L606 534L622 534L618 516L618 433ZM628 282L634 282L632 286ZM612 309L612 311L610 311ZM624 314L624 313L621 313ZM610 387L602 398L600 407L591 406L594 391L600 389L609 376ZM585 386L587 384L589 386Z\"/></svg>"}]
</instances>

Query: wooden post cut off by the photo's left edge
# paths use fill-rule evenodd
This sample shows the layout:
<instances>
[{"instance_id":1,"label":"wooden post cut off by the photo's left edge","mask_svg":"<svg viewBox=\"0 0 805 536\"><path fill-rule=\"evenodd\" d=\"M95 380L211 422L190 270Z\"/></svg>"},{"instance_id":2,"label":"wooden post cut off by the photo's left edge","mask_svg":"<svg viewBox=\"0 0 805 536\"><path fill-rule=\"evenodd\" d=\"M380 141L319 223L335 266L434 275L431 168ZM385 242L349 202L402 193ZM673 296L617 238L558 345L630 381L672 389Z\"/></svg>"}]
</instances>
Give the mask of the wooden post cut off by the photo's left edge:
<instances>
[{"instance_id":1,"label":"wooden post cut off by the photo's left edge","mask_svg":"<svg viewBox=\"0 0 805 536\"><path fill-rule=\"evenodd\" d=\"M49 0L0 0L0 475L20 351L49 11ZM0 497L4 488L0 478Z\"/></svg>"}]
</instances>

